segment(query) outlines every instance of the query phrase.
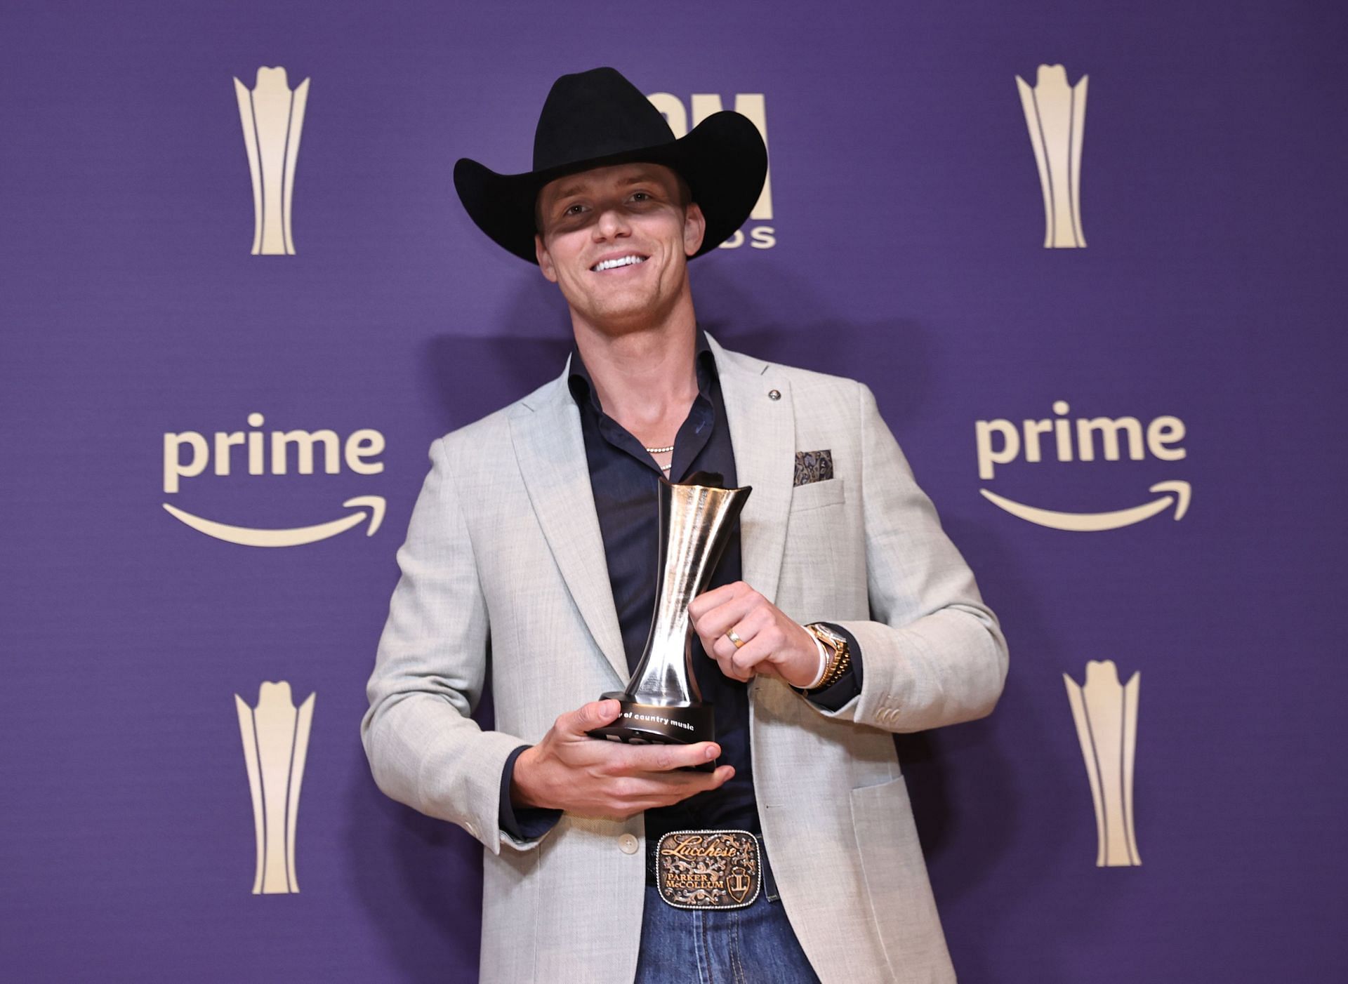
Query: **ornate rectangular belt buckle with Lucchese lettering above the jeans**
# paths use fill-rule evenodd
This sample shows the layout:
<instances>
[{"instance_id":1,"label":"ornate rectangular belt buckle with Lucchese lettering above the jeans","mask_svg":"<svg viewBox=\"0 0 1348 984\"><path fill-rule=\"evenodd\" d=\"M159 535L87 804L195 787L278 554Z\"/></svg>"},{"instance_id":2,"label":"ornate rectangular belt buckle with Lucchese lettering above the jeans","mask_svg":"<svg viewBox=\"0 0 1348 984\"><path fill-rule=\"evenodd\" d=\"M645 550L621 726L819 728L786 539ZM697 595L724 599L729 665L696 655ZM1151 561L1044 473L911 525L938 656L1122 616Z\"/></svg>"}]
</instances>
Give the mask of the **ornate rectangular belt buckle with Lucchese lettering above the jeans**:
<instances>
[{"instance_id":1,"label":"ornate rectangular belt buckle with Lucchese lettering above the jeans","mask_svg":"<svg viewBox=\"0 0 1348 984\"><path fill-rule=\"evenodd\" d=\"M743 909L763 886L748 830L670 830L655 847L655 884L675 909Z\"/></svg>"}]
</instances>

